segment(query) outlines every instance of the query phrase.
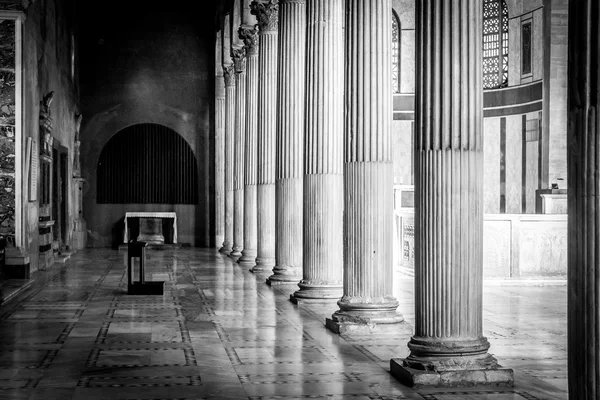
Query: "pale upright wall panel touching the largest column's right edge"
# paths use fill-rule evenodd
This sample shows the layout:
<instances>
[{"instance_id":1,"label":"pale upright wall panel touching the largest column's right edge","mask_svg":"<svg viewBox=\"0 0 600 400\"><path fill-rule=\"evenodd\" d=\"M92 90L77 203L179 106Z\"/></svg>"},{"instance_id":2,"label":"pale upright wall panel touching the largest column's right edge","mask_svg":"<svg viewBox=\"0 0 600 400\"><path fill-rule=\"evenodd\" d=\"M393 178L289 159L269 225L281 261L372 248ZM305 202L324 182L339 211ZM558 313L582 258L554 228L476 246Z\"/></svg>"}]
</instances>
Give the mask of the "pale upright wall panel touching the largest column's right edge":
<instances>
[{"instance_id":1,"label":"pale upright wall panel touching the largest column's right edge","mask_svg":"<svg viewBox=\"0 0 600 400\"><path fill-rule=\"evenodd\" d=\"M483 120L483 210L500 212L500 118Z\"/></svg>"}]
</instances>

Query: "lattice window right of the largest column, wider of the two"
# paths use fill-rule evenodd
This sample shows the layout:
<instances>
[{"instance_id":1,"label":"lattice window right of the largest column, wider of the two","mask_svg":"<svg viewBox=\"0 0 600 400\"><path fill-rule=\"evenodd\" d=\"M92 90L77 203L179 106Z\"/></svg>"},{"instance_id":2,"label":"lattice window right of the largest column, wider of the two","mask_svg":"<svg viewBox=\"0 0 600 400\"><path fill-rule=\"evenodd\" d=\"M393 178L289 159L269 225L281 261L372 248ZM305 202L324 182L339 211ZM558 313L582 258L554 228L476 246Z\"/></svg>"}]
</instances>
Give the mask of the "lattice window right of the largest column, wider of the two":
<instances>
[{"instance_id":1,"label":"lattice window right of the largest column, wider of the two","mask_svg":"<svg viewBox=\"0 0 600 400\"><path fill-rule=\"evenodd\" d=\"M483 1L483 88L508 85L508 7L504 0Z\"/></svg>"}]
</instances>

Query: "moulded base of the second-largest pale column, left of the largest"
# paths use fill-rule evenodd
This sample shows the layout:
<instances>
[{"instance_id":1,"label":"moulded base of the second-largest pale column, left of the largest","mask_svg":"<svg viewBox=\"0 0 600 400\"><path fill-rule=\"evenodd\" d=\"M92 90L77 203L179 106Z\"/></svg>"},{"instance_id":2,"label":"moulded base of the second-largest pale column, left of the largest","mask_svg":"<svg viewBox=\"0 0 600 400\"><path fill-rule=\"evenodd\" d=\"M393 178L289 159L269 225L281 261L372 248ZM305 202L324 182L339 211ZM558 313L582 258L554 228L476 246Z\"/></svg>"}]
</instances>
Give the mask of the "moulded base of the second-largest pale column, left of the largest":
<instances>
[{"instance_id":1,"label":"moulded base of the second-largest pale column, left of the largest","mask_svg":"<svg viewBox=\"0 0 600 400\"><path fill-rule=\"evenodd\" d=\"M339 304L339 303L338 303ZM336 311L327 318L325 326L338 335L369 335L399 333L404 316L394 310Z\"/></svg>"}]
</instances>

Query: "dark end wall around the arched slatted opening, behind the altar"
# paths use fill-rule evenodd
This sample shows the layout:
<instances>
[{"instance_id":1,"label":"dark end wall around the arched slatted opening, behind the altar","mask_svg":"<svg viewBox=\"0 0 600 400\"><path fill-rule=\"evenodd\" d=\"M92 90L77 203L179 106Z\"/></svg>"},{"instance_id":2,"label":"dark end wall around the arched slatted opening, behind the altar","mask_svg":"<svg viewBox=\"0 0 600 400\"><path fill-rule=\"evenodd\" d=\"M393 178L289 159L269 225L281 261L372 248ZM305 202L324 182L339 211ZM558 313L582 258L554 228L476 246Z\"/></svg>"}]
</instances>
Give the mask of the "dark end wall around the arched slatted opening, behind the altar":
<instances>
[{"instance_id":1,"label":"dark end wall around the arched slatted opening, behind the altar","mask_svg":"<svg viewBox=\"0 0 600 400\"><path fill-rule=\"evenodd\" d=\"M175 211L180 242L209 246L214 236L214 37L212 2L155 9L143 2L97 2L82 13L81 168L91 246L116 244L126 211ZM114 10L119 12L115 13ZM135 22L133 22L135 21ZM98 204L98 158L134 124L181 135L198 164L196 205ZM127 176L126 179L135 179Z\"/></svg>"}]
</instances>

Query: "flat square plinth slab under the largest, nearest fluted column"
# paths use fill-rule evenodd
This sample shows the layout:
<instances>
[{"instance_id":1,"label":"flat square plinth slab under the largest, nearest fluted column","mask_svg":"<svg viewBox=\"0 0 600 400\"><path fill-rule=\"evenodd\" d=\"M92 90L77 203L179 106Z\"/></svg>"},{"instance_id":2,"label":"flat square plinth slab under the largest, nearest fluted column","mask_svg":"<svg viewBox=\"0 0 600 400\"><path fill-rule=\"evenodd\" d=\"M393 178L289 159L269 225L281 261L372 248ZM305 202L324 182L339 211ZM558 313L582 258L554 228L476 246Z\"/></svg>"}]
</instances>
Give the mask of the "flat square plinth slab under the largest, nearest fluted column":
<instances>
[{"instance_id":1,"label":"flat square plinth slab under the largest, nearest fluted column","mask_svg":"<svg viewBox=\"0 0 600 400\"><path fill-rule=\"evenodd\" d=\"M390 373L410 387L514 386L509 368L425 371L403 365L403 359L390 360Z\"/></svg>"}]
</instances>

